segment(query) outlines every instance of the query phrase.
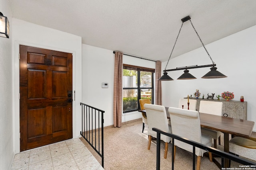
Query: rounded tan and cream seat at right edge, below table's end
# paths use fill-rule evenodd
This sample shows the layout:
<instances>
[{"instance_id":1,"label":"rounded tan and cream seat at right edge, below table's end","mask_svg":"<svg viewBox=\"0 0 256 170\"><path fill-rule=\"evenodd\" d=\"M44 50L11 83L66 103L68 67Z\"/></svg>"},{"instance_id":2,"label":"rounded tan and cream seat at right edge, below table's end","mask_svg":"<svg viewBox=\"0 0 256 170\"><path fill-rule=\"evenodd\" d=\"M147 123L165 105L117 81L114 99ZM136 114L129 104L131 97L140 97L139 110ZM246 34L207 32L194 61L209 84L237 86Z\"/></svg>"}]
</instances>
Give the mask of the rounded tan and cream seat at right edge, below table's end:
<instances>
[{"instance_id":1,"label":"rounded tan and cream seat at right edge, below table's end","mask_svg":"<svg viewBox=\"0 0 256 170\"><path fill-rule=\"evenodd\" d=\"M256 138L234 137L230 139L229 152L256 160Z\"/></svg>"}]
</instances>

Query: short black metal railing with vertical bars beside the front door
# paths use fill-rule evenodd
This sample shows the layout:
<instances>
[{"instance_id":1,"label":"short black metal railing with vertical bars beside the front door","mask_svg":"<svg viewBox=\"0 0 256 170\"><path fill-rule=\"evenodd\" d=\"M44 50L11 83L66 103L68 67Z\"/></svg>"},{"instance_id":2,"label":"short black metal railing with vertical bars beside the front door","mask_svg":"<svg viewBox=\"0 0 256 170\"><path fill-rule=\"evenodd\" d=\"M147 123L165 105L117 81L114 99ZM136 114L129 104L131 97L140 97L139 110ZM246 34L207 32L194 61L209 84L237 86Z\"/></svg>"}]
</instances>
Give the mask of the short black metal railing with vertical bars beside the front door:
<instances>
[{"instance_id":1,"label":"short black metal railing with vertical bars beside the front door","mask_svg":"<svg viewBox=\"0 0 256 170\"><path fill-rule=\"evenodd\" d=\"M80 106L82 106L82 131L80 131L80 135L102 158L101 166L104 168L103 113L105 111L83 103L80 103Z\"/></svg>"}]
</instances>

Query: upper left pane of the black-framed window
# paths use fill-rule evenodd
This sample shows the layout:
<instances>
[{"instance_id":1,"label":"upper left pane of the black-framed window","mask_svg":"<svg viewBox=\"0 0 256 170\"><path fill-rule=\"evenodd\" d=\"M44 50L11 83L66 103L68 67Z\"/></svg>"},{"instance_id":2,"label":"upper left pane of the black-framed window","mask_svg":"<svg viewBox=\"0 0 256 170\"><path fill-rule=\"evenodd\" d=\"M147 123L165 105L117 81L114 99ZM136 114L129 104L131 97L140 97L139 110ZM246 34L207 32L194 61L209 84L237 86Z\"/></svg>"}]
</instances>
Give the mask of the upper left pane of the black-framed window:
<instances>
[{"instance_id":1,"label":"upper left pane of the black-framed window","mask_svg":"<svg viewBox=\"0 0 256 170\"><path fill-rule=\"evenodd\" d=\"M123 87L138 87L138 72L134 70L123 69Z\"/></svg>"}]
</instances>

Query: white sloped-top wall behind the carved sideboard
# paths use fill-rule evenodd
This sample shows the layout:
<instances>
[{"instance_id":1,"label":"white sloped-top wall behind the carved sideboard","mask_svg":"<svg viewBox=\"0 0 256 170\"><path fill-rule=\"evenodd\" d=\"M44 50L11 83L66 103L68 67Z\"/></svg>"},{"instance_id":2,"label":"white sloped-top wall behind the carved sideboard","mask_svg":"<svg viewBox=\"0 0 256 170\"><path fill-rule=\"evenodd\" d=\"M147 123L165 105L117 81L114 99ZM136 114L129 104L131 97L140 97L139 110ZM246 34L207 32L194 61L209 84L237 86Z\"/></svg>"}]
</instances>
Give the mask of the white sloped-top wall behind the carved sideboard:
<instances>
[{"instance_id":1,"label":"white sloped-top wall behind the carved sideboard","mask_svg":"<svg viewBox=\"0 0 256 170\"><path fill-rule=\"evenodd\" d=\"M215 93L215 99L216 95L230 91L234 92L233 100L240 101L240 96L244 96L244 101L248 102L247 119L256 122L255 32L256 25L206 45L206 49L216 63L217 70L228 76L227 78L201 78L210 71L210 67L190 69L189 73L197 78L194 80L176 80L183 70L168 72L174 81L162 82L163 105L177 107L179 98L194 94L196 89L201 92L200 98L203 94L207 97L208 93L209 95ZM196 64L212 64L203 47L171 59L166 69ZM162 63L162 68L165 66L166 62ZM256 125L253 131L256 131Z\"/></svg>"}]
</instances>

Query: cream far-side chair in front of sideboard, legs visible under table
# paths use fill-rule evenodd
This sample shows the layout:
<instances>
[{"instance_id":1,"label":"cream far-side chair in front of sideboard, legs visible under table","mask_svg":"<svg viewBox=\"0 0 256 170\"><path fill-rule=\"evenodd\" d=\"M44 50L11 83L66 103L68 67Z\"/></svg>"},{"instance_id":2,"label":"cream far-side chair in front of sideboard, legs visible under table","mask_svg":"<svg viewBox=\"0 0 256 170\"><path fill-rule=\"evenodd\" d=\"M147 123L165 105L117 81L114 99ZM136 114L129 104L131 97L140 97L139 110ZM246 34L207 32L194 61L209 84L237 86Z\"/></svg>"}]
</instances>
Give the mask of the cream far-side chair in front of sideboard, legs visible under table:
<instances>
[{"instance_id":1,"label":"cream far-side chair in front of sideboard, legs visible under table","mask_svg":"<svg viewBox=\"0 0 256 170\"><path fill-rule=\"evenodd\" d=\"M199 106L199 112L222 116L222 105L223 105L222 102L201 100L200 106ZM202 134L212 136L214 141L214 148L217 148L217 139L219 140L219 145L220 145L220 135L221 135L220 131L202 128Z\"/></svg>"}]
</instances>

